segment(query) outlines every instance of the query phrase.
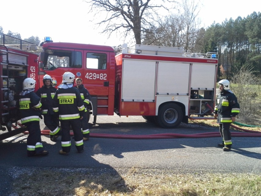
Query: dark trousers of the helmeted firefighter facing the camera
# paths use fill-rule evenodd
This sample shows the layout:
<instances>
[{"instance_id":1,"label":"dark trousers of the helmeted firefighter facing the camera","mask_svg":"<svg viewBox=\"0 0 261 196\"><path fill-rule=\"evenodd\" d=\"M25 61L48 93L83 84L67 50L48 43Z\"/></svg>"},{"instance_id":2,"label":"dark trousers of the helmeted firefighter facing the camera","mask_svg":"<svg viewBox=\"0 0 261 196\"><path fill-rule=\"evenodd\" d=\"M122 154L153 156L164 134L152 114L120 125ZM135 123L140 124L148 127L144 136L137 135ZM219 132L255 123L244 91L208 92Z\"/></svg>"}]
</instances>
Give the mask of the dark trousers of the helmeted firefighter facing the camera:
<instances>
[{"instance_id":1,"label":"dark trousers of the helmeted firefighter facing the camera","mask_svg":"<svg viewBox=\"0 0 261 196\"><path fill-rule=\"evenodd\" d=\"M54 115L44 114L44 124L50 129L50 137L60 135L59 119Z\"/></svg>"}]
</instances>

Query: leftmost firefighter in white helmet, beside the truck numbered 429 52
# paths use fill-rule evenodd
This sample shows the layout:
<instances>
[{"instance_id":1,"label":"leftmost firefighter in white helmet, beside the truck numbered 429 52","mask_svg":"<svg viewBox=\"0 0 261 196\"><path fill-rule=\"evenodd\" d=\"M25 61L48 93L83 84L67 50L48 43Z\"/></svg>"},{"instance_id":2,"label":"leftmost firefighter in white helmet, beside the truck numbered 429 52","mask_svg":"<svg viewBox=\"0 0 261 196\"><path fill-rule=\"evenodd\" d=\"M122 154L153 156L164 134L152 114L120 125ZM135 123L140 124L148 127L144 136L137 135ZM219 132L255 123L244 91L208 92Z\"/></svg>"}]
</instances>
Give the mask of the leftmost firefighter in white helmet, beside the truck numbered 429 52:
<instances>
[{"instance_id":1,"label":"leftmost firefighter in white helmet, beside the truck numbered 429 52","mask_svg":"<svg viewBox=\"0 0 261 196\"><path fill-rule=\"evenodd\" d=\"M28 128L27 156L45 156L49 152L43 149L40 129L40 97L35 92L36 81L26 78L23 81L23 90L19 94L21 123Z\"/></svg>"}]
</instances>

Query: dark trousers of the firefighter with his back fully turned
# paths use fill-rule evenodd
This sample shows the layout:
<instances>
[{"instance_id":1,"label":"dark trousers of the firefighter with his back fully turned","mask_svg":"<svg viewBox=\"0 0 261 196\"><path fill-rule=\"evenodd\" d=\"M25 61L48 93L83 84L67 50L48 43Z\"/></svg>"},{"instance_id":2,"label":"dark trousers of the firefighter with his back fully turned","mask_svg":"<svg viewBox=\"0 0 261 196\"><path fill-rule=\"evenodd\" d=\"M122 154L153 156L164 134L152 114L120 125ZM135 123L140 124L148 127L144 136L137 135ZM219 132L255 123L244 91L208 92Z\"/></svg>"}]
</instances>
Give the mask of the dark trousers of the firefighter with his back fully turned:
<instances>
[{"instance_id":1,"label":"dark trousers of the firefighter with his back fully turned","mask_svg":"<svg viewBox=\"0 0 261 196\"><path fill-rule=\"evenodd\" d=\"M81 121L80 119L73 120L61 120L61 141L62 141L62 151L70 152L71 149L71 136L70 136L70 126L72 126L74 132L75 146L78 152L83 151L83 140L81 133Z\"/></svg>"}]
</instances>

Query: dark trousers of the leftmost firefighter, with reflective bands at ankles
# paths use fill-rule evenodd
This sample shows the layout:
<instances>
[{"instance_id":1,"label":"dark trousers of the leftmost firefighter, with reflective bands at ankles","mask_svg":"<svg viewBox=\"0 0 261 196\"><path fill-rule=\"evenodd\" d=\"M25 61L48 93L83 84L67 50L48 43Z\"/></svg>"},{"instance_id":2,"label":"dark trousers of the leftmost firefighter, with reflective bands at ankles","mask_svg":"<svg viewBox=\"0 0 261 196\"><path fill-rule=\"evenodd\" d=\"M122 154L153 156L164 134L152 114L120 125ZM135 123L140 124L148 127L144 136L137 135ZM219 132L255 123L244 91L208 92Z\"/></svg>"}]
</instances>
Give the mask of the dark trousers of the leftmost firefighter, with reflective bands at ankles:
<instances>
[{"instance_id":1,"label":"dark trousers of the leftmost firefighter, with reflective bands at ankles","mask_svg":"<svg viewBox=\"0 0 261 196\"><path fill-rule=\"evenodd\" d=\"M44 149L41 139L40 122L29 122L25 126L29 132L27 137L27 155L33 156L36 153L42 152Z\"/></svg>"}]
</instances>

